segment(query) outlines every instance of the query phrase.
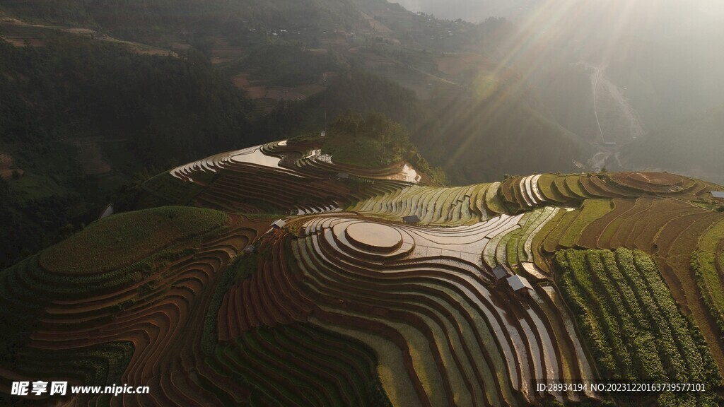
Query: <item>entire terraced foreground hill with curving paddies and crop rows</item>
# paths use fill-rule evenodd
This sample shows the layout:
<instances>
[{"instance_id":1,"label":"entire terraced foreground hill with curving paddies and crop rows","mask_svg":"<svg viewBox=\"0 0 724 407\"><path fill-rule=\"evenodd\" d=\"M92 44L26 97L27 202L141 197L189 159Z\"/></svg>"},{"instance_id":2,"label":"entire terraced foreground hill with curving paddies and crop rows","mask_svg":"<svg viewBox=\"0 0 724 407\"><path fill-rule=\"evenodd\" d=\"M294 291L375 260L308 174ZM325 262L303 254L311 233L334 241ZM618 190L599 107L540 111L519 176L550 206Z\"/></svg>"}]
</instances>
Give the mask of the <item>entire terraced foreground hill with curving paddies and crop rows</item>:
<instances>
[{"instance_id":1,"label":"entire terraced foreground hill with curving paddies and crop rows","mask_svg":"<svg viewBox=\"0 0 724 407\"><path fill-rule=\"evenodd\" d=\"M363 138L384 121L330 131L342 124ZM163 172L142 186L150 209L1 272L0 389L151 386L113 401L129 406L722 402L724 213L710 191L724 188L657 172L440 187L405 161L343 164L326 143ZM520 277L531 288L515 291ZM706 390L562 393L540 377Z\"/></svg>"}]
</instances>

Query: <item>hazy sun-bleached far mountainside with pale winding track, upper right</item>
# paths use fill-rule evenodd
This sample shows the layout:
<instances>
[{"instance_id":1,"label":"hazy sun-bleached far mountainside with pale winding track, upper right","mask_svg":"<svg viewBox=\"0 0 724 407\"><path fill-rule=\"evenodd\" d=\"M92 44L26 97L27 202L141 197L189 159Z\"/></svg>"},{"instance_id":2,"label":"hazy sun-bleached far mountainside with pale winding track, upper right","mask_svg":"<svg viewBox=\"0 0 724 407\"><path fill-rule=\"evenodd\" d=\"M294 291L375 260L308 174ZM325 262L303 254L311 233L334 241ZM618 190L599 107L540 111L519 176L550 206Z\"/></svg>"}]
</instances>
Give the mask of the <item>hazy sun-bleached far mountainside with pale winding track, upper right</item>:
<instances>
[{"instance_id":1,"label":"hazy sun-bleached far mountainside with pale winding track, upper right","mask_svg":"<svg viewBox=\"0 0 724 407\"><path fill-rule=\"evenodd\" d=\"M724 54L713 46L724 38L721 4L535 3L501 48L513 51L510 66L526 75L552 121L596 145L590 170L670 170L721 182L711 157L724 146L714 119L724 104Z\"/></svg>"}]
</instances>

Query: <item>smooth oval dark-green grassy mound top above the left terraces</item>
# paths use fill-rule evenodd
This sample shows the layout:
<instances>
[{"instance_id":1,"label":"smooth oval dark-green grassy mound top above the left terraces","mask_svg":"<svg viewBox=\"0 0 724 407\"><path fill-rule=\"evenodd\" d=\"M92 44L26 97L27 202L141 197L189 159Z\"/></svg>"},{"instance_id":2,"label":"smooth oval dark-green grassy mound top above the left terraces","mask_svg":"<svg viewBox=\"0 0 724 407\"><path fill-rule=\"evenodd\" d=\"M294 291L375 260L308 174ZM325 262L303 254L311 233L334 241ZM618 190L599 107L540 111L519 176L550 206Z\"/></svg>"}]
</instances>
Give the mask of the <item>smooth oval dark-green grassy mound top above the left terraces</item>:
<instances>
[{"instance_id":1,"label":"smooth oval dark-green grassy mound top above the left terraces","mask_svg":"<svg viewBox=\"0 0 724 407\"><path fill-rule=\"evenodd\" d=\"M49 272L95 274L127 266L170 243L227 225L222 211L164 206L102 219L41 255Z\"/></svg>"}]
</instances>

